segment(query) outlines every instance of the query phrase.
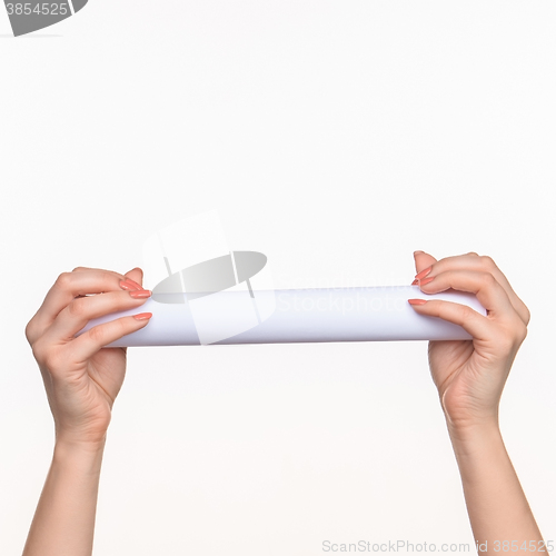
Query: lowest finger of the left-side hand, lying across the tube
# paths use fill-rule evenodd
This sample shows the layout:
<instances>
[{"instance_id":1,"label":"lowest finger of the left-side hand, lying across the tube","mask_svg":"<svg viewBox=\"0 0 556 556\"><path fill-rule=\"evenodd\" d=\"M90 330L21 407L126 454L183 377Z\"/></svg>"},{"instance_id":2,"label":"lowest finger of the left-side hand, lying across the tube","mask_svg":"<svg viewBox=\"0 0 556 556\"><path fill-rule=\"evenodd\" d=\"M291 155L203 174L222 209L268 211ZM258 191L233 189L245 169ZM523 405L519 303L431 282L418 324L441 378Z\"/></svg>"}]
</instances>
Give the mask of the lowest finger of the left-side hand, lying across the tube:
<instances>
[{"instance_id":1,"label":"lowest finger of the left-side hand, lying across the tube","mask_svg":"<svg viewBox=\"0 0 556 556\"><path fill-rule=\"evenodd\" d=\"M139 319L136 317L139 317ZM151 312L140 312L135 317L120 317L102 325L93 326L71 342L70 353L73 361L87 361L108 344L147 326L151 317Z\"/></svg>"}]
</instances>

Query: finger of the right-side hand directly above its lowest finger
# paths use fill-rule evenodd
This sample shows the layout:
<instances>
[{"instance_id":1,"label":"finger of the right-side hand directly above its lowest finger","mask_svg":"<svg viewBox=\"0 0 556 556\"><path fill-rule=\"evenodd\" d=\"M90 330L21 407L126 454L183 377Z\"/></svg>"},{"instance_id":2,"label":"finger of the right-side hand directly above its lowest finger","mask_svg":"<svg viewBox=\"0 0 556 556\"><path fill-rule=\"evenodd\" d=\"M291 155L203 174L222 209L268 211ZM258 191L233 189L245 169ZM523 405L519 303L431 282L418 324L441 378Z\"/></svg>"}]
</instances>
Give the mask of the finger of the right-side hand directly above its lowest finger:
<instances>
[{"instance_id":1,"label":"finger of the right-side hand directly above its lowest finger","mask_svg":"<svg viewBox=\"0 0 556 556\"><path fill-rule=\"evenodd\" d=\"M435 276L427 276L420 281L419 287L425 294L439 294L450 288L468 291L476 295L480 305L487 310L487 317L507 319L515 317L515 310L506 290L490 272L447 270Z\"/></svg>"}]
</instances>

